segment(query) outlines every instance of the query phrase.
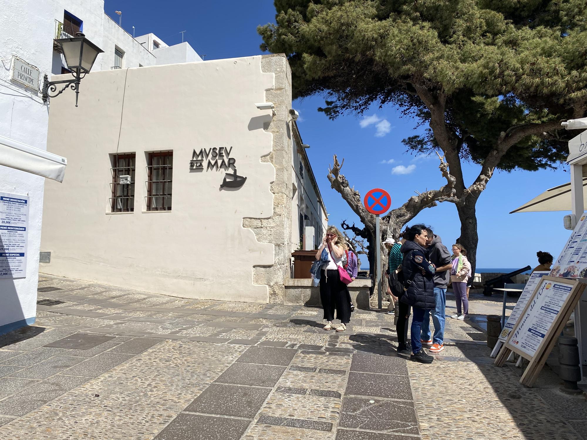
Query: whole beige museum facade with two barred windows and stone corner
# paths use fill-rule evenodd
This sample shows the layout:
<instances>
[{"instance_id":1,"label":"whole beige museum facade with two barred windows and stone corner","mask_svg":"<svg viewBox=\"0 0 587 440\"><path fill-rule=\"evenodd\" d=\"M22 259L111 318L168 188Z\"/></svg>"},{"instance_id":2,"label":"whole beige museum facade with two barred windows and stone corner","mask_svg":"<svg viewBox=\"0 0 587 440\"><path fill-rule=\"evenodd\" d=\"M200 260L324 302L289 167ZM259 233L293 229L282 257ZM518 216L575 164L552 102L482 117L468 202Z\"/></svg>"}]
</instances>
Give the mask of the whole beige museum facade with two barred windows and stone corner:
<instances>
[{"instance_id":1,"label":"whole beige museum facade with two barred windows and stone corner","mask_svg":"<svg viewBox=\"0 0 587 440\"><path fill-rule=\"evenodd\" d=\"M73 93L51 102L48 148L69 168L45 187L41 272L284 303L300 216L286 57L104 70L81 94L77 108ZM317 227L326 212L308 171Z\"/></svg>"}]
</instances>

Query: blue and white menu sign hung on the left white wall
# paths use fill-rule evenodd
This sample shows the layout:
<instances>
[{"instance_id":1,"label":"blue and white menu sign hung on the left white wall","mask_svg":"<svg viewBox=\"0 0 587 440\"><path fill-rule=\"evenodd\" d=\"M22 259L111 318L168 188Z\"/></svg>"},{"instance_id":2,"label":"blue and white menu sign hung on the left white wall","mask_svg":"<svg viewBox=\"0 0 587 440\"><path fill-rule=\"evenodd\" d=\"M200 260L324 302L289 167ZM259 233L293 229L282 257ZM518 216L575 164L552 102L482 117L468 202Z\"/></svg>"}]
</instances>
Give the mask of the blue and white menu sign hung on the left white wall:
<instances>
[{"instance_id":1,"label":"blue and white menu sign hung on the left white wall","mask_svg":"<svg viewBox=\"0 0 587 440\"><path fill-rule=\"evenodd\" d=\"M0 192L0 279L26 277L29 198Z\"/></svg>"}]
</instances>

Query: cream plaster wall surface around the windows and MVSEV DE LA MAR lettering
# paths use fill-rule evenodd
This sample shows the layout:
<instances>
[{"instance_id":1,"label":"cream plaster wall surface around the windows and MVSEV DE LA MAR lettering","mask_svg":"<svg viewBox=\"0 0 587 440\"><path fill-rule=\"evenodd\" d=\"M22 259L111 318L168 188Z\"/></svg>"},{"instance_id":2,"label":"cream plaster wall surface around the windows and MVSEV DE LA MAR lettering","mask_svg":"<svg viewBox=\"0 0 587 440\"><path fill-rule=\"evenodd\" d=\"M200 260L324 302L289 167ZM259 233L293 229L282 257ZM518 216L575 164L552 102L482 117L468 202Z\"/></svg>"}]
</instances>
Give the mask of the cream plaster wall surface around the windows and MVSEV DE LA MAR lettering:
<instances>
[{"instance_id":1,"label":"cream plaster wall surface around the windows and MVSEV DE LA MAR lettering","mask_svg":"<svg viewBox=\"0 0 587 440\"><path fill-rule=\"evenodd\" d=\"M129 69L126 89L125 70L90 73L83 106L74 111L73 94L53 101L48 142L72 166L59 187L47 182L43 251L52 254L41 270L181 297L268 302L253 269L274 265L274 243L259 243L243 227L246 218L271 218L277 197L275 168L262 161L273 136L259 122L267 112L255 107L275 75L262 73L261 59ZM280 111L286 124L287 110ZM83 148L63 137L83 137ZM109 212L109 154L117 145L119 153L136 152L131 213ZM220 191L224 171L190 172L194 148L221 146L232 147L247 177L237 191ZM143 212L145 152L159 150L173 150L172 210Z\"/></svg>"}]
</instances>

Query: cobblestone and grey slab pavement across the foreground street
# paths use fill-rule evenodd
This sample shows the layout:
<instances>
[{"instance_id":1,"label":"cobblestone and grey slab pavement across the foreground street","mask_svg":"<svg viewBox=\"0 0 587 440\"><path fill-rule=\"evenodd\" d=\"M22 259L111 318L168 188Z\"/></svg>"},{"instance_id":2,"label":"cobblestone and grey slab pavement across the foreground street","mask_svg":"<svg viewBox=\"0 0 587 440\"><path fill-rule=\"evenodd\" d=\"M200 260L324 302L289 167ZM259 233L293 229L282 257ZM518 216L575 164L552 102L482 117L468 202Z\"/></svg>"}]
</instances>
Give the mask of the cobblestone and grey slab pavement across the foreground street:
<instances>
[{"instance_id":1,"label":"cobblestone and grey slab pavement across the foreground street","mask_svg":"<svg viewBox=\"0 0 587 440\"><path fill-rule=\"evenodd\" d=\"M421 365L397 356L393 316L377 311L336 333L311 307L55 277L38 307L0 337L1 439L587 438L585 399L548 369L528 389L494 367L481 316L447 319L446 349Z\"/></svg>"}]
</instances>

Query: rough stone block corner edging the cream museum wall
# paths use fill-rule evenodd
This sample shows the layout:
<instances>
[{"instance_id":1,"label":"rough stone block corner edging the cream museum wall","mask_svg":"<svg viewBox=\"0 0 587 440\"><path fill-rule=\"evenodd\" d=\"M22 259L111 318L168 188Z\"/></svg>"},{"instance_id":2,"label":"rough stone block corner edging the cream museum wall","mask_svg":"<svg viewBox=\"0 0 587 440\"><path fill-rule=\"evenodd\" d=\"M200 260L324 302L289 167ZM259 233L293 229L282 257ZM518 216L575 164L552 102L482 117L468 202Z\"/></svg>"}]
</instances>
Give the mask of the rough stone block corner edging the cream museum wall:
<instances>
[{"instance_id":1,"label":"rough stone block corner edging the cream museum wall","mask_svg":"<svg viewBox=\"0 0 587 440\"><path fill-rule=\"evenodd\" d=\"M289 279L289 250L291 249L292 194L292 133L289 109L292 105L291 69L285 55L264 55L261 70L275 75L274 87L265 92L265 101L275 105L275 116L265 123L265 131L273 135L273 150L261 158L275 167L271 183L273 214L270 218L245 218L244 228L250 228L260 243L273 243L275 262L272 266L254 266L253 283L269 288L269 303L284 304L284 280Z\"/></svg>"}]
</instances>

